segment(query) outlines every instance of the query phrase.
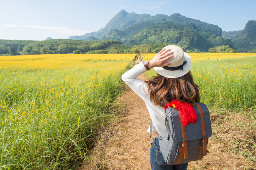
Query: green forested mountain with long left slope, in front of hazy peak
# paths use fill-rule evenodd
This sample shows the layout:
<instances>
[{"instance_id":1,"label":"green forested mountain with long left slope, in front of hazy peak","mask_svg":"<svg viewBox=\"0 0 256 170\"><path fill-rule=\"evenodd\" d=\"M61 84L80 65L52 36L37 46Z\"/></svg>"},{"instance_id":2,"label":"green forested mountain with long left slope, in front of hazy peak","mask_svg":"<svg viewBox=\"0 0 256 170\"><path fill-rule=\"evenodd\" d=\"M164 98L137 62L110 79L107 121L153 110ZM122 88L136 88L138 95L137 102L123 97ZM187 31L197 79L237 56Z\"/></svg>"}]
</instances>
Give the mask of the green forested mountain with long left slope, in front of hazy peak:
<instances>
[{"instance_id":1,"label":"green forested mountain with long left slope, in front of hazy peak","mask_svg":"<svg viewBox=\"0 0 256 170\"><path fill-rule=\"evenodd\" d=\"M211 30L202 30L192 23L182 25L166 20L157 23L141 22L122 30L113 29L102 40L120 40L127 45L176 44L192 51L208 51L210 47L221 45L234 47L231 40L226 40Z\"/></svg>"}]
</instances>

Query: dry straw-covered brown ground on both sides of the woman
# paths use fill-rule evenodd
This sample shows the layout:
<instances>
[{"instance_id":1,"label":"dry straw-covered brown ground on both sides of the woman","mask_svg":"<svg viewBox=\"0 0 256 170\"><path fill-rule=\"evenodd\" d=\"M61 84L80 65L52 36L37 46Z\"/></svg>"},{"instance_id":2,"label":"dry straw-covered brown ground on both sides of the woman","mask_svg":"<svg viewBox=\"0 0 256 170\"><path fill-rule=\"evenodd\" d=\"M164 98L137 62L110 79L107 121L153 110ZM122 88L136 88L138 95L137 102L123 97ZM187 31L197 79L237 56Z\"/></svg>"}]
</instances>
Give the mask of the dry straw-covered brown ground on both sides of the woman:
<instances>
[{"instance_id":1,"label":"dry straw-covered brown ground on both sides of the woman","mask_svg":"<svg viewBox=\"0 0 256 170\"><path fill-rule=\"evenodd\" d=\"M147 80L144 74L138 78ZM108 125L102 133L97 145L85 159L82 167L78 168L79 170L151 170L149 149L152 138L149 138L147 133L151 119L143 100L127 85L124 88L125 92L120 97L120 103L125 106L125 111L120 117L111 121L111 125ZM218 138L225 135L233 121L236 123L239 120L234 117L234 113L228 111L225 116L212 112L212 128L215 130L212 137L217 138L216 140L210 138L207 146L210 153L200 161L189 163L188 170L252 170L254 163L249 163L243 156L230 152L229 143L233 139L225 141L226 136L223 142L223 139ZM241 119L243 115L239 114L238 117ZM230 138L240 133L236 128L234 127ZM222 130L224 132L221 132ZM242 130L241 134L243 133Z\"/></svg>"}]
</instances>

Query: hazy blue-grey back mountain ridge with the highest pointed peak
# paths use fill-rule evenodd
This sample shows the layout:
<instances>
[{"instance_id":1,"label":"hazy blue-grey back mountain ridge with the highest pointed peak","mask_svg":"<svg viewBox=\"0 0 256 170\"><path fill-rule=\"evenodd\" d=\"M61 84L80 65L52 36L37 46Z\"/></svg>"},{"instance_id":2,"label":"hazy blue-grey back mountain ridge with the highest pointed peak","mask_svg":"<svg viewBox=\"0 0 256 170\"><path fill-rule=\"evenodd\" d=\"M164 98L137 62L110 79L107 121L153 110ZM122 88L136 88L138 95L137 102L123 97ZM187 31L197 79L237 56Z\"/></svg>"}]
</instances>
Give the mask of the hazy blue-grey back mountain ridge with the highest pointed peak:
<instances>
[{"instance_id":1,"label":"hazy blue-grey back mountain ridge with the highest pointed peak","mask_svg":"<svg viewBox=\"0 0 256 170\"><path fill-rule=\"evenodd\" d=\"M222 30L217 25L212 25L208 23L201 22L200 20L195 20L192 18L187 18L183 15L180 15L178 13L172 14L170 16L163 15L163 14L157 14L154 16L151 16L149 14L136 14L136 13L127 13L125 10L121 10L118 14L116 14L104 27L101 28L98 31L87 33L85 35L81 36L72 36L69 37L69 39L73 40L84 40L87 37L94 36L95 38L100 39L104 35L107 34L109 30L122 30L125 29L133 24L138 24L145 21L151 21L153 23L157 23L161 20L170 21L172 23L179 23L179 24L187 24L192 23L195 24L200 29L205 30L212 30L215 32L218 36L221 36Z\"/></svg>"}]
</instances>

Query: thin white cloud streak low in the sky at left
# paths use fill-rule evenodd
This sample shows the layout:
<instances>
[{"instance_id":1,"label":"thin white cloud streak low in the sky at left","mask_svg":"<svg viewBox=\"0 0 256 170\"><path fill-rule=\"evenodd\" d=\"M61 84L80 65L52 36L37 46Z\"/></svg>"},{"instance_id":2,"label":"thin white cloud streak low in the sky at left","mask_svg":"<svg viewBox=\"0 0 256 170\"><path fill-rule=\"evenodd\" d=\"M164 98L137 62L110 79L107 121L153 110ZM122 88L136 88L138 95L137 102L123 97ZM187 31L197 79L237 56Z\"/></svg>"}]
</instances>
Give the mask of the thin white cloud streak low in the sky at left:
<instances>
[{"instance_id":1,"label":"thin white cloud streak low in the sky at left","mask_svg":"<svg viewBox=\"0 0 256 170\"><path fill-rule=\"evenodd\" d=\"M75 29L75 28L64 28L64 27L46 27L46 26L38 26L38 25L18 25L18 24L5 24L1 25L3 27L27 27L27 28L36 28L42 30L54 30L55 33L62 34L62 35L84 35L90 31L82 30L82 29Z\"/></svg>"}]
</instances>

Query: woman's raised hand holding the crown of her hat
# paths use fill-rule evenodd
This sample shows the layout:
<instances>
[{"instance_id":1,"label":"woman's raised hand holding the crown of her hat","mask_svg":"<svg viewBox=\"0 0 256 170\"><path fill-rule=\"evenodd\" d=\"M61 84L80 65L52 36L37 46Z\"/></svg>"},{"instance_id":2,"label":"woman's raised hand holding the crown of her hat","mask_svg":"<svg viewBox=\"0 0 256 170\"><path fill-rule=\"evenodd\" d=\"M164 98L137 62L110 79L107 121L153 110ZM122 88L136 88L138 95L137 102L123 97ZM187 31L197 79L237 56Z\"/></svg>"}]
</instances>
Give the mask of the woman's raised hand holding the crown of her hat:
<instances>
[{"instance_id":1,"label":"woman's raised hand holding the crown of her hat","mask_svg":"<svg viewBox=\"0 0 256 170\"><path fill-rule=\"evenodd\" d=\"M170 58L172 58L174 55L172 55L174 52L170 52L171 49L166 50L164 48L163 50L159 51L155 57L148 62L148 67L164 67L166 65L170 65L171 62L167 62Z\"/></svg>"}]
</instances>

